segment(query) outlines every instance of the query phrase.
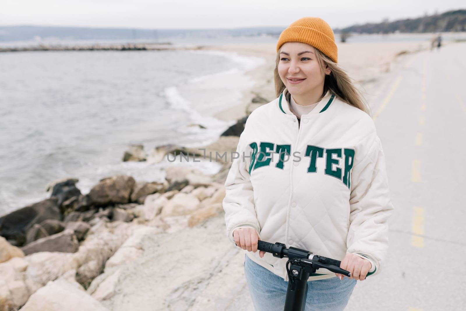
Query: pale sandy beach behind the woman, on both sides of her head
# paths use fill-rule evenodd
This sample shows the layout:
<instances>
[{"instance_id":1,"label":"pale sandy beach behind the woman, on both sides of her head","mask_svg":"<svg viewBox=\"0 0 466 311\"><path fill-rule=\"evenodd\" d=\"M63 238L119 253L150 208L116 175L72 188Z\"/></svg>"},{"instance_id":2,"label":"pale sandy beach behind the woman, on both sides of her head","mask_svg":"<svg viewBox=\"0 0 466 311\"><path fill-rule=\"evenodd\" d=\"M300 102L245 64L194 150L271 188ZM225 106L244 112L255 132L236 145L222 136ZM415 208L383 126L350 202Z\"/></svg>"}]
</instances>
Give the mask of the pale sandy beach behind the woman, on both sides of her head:
<instances>
[{"instance_id":1,"label":"pale sandy beach behind the woman, on both sides of her head","mask_svg":"<svg viewBox=\"0 0 466 311\"><path fill-rule=\"evenodd\" d=\"M445 42L447 43L447 42ZM372 92L381 83L384 74L403 56L429 48L428 41L417 42L368 42L338 43L338 64L355 80L360 90ZM244 117L252 98L263 97L274 100L274 68L276 46L274 44L231 44L203 47L207 50L234 52L243 56L262 57L260 65L246 72L246 76L254 81L254 85L243 91L238 105L227 107L215 114L215 117L232 121ZM254 109L254 108L253 108Z\"/></svg>"}]
</instances>

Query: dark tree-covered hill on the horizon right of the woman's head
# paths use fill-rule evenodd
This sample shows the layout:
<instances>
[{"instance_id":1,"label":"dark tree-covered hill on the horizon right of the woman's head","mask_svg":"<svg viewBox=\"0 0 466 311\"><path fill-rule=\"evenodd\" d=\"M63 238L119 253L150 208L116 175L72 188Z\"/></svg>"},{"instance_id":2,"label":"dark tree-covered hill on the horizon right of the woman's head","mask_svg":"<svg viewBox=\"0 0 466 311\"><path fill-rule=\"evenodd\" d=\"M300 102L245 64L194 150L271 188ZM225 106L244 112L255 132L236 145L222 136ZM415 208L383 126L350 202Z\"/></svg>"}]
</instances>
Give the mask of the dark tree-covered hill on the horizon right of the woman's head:
<instances>
[{"instance_id":1,"label":"dark tree-covered hill on the horizon right of the woman's head","mask_svg":"<svg viewBox=\"0 0 466 311\"><path fill-rule=\"evenodd\" d=\"M381 23L366 23L346 28L334 29L336 33L366 33L366 34L388 34L401 33L426 33L426 32L448 32L466 31L466 10L448 11L442 14L434 14L419 18L408 18L397 21L383 21Z\"/></svg>"}]
</instances>

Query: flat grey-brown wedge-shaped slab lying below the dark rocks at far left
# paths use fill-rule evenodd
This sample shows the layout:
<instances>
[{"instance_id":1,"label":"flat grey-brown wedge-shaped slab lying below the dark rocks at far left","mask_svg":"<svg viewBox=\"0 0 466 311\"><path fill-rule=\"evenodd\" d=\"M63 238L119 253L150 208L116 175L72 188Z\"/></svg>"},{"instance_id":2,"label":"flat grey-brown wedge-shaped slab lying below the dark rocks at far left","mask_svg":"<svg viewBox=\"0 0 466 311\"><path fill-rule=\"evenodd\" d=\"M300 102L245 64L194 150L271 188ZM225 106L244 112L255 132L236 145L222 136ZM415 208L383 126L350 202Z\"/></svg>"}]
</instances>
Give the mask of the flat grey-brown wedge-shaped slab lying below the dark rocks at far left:
<instances>
[{"instance_id":1,"label":"flat grey-brown wedge-shaped slab lying below the dark rocks at far left","mask_svg":"<svg viewBox=\"0 0 466 311\"><path fill-rule=\"evenodd\" d=\"M41 251L74 253L78 250L78 248L79 243L76 239L74 231L65 230L61 233L50 235L29 243L22 248L22 251L26 255Z\"/></svg>"}]
</instances>

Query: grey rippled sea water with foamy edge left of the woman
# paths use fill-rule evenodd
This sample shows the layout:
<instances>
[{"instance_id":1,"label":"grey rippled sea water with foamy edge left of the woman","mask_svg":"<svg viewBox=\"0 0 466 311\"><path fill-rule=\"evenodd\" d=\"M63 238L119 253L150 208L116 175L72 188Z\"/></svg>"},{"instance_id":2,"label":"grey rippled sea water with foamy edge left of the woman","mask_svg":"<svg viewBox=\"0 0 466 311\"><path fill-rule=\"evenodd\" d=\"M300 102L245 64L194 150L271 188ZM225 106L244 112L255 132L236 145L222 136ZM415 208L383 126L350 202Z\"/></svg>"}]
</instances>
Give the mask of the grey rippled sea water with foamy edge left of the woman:
<instances>
[{"instance_id":1,"label":"grey rippled sea water with foamy edge left of the woman","mask_svg":"<svg viewBox=\"0 0 466 311\"><path fill-rule=\"evenodd\" d=\"M262 62L213 51L1 53L0 215L48 198L61 178L78 178L83 194L116 174L162 181L174 163L123 162L123 152L215 141L234 121L213 115L240 104L252 83L244 72Z\"/></svg>"}]
</instances>

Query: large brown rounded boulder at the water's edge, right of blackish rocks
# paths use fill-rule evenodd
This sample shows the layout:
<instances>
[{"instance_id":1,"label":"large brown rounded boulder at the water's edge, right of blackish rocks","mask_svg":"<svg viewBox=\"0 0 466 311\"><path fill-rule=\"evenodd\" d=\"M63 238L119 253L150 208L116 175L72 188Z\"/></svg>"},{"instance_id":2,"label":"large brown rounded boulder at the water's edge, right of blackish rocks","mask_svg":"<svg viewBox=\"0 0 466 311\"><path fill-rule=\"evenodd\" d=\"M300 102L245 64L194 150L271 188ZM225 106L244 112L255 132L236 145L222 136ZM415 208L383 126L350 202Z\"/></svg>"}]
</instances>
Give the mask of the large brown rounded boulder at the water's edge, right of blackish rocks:
<instances>
[{"instance_id":1,"label":"large brown rounded boulder at the water's edge, right of blackish rocks","mask_svg":"<svg viewBox=\"0 0 466 311\"><path fill-rule=\"evenodd\" d=\"M136 181L131 176L103 178L89 192L90 201L96 206L129 203Z\"/></svg>"}]
</instances>

